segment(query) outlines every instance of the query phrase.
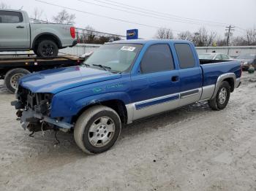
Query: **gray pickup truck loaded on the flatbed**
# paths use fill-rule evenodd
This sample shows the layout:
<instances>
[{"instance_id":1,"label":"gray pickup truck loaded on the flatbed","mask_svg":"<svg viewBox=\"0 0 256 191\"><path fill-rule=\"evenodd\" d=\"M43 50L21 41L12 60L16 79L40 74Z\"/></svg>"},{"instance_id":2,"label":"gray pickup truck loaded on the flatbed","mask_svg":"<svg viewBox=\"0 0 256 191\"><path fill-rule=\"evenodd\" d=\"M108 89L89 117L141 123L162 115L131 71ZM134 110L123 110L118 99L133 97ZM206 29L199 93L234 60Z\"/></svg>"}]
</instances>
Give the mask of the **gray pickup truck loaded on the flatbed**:
<instances>
[{"instance_id":1,"label":"gray pickup truck loaded on the flatbed","mask_svg":"<svg viewBox=\"0 0 256 191\"><path fill-rule=\"evenodd\" d=\"M22 10L0 9L0 31L0 52L34 50L40 57L52 57L77 44L74 26L30 23Z\"/></svg>"}]
</instances>

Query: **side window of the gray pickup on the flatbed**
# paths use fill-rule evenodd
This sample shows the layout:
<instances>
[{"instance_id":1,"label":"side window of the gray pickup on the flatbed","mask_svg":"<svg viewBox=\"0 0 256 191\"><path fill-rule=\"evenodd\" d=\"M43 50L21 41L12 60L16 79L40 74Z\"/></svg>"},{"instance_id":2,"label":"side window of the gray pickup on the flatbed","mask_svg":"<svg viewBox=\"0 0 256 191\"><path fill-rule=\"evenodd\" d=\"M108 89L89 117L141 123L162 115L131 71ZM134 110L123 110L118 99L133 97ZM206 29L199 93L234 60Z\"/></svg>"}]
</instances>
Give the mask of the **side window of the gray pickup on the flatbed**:
<instances>
[{"instance_id":1,"label":"side window of the gray pickup on the flatbed","mask_svg":"<svg viewBox=\"0 0 256 191\"><path fill-rule=\"evenodd\" d=\"M21 23L22 21L21 12L0 11L0 23Z\"/></svg>"}]
</instances>

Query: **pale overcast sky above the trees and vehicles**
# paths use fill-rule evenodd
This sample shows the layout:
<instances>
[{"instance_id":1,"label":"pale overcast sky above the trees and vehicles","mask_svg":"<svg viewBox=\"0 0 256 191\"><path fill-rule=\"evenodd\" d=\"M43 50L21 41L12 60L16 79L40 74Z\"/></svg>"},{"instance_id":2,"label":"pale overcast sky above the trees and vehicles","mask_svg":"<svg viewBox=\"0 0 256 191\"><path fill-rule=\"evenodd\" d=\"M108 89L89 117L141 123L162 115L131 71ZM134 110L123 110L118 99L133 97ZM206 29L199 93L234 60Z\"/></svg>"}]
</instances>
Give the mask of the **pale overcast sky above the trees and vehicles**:
<instances>
[{"instance_id":1,"label":"pale overcast sky above the trees and vehicles","mask_svg":"<svg viewBox=\"0 0 256 191\"><path fill-rule=\"evenodd\" d=\"M243 35L243 28L252 28L256 26L256 0L40 0L63 7L68 7L68 12L76 16L75 26L84 28L92 26L97 31L104 31L112 34L125 35L129 28L138 28L141 38L153 38L157 27L171 28L174 34L178 31L189 30L194 32L200 26L205 26L208 31L217 31L217 34L224 35L225 26L232 24L236 26L235 35ZM83 2L82 2L83 1ZM56 7L50 4L44 4L35 0L0 0L0 3L10 5L12 9L20 9L33 15L34 8L43 10L42 20L47 17L51 20L53 15L60 12L62 7ZM93 4L89 4L89 3ZM102 2L105 2L102 3ZM113 6L115 2L121 3ZM100 4L106 7L99 7ZM124 4L128 4L127 7ZM119 6L119 7L118 7ZM107 7L112 7L109 9ZM122 8L124 7L124 8ZM143 7L140 12L135 11L135 7ZM90 15L83 12L91 12L97 15ZM125 9L124 12L115 9ZM146 12L151 12L151 17ZM132 12L132 13L131 13ZM159 12L159 13L158 13ZM135 14L138 13L139 15ZM162 13L162 15L159 15ZM104 17L105 16L105 17ZM107 17L116 18L112 20ZM160 17L160 18L159 18ZM189 19L189 20L188 20ZM191 20L193 19L193 20ZM194 20L195 19L195 20ZM132 23L124 23L121 20L127 20ZM205 20L203 23L200 20ZM196 22L196 24L192 24ZM146 26L141 26L140 23Z\"/></svg>"}]
</instances>

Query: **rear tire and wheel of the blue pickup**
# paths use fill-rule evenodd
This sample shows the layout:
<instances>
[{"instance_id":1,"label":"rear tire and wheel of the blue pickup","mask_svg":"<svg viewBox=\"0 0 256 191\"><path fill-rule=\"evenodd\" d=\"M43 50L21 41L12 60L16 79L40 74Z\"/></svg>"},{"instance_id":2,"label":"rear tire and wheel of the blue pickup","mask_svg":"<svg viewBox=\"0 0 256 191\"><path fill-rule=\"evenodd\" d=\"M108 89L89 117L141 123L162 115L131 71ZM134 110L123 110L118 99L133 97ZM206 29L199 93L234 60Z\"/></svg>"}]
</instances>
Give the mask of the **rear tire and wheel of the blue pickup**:
<instances>
[{"instance_id":1,"label":"rear tire and wheel of the blue pickup","mask_svg":"<svg viewBox=\"0 0 256 191\"><path fill-rule=\"evenodd\" d=\"M225 90L226 92L225 95L222 93L222 90ZM227 106L229 99L230 99L230 84L226 81L223 81L219 87L217 95L215 96L215 98L208 101L208 105L213 110L222 110L222 109L225 109L225 107Z\"/></svg>"}]
</instances>

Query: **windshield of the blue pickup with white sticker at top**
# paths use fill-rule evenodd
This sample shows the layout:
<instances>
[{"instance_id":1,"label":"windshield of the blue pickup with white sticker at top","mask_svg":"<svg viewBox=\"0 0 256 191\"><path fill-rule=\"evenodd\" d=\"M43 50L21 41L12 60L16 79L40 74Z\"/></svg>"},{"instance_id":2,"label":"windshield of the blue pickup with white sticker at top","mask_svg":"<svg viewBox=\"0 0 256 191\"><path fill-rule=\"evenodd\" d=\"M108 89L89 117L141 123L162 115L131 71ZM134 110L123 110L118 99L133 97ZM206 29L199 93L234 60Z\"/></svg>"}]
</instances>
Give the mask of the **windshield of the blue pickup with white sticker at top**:
<instances>
[{"instance_id":1,"label":"windshield of the blue pickup with white sticker at top","mask_svg":"<svg viewBox=\"0 0 256 191\"><path fill-rule=\"evenodd\" d=\"M142 44L104 44L84 64L110 71L127 71L140 52Z\"/></svg>"}]
</instances>

